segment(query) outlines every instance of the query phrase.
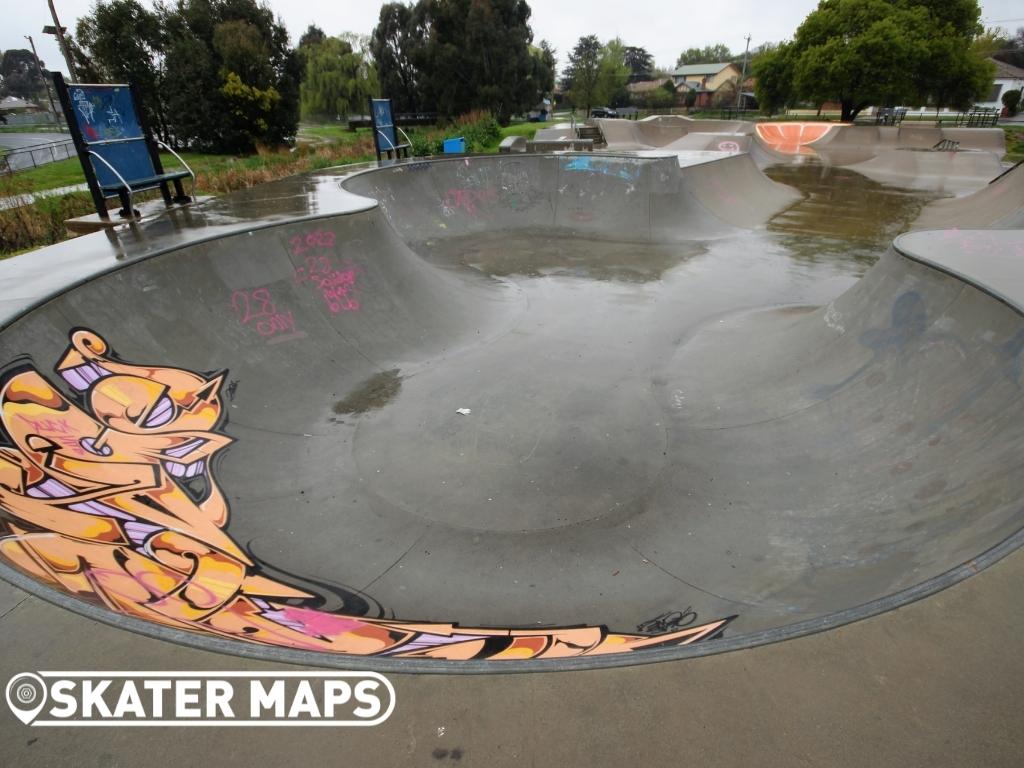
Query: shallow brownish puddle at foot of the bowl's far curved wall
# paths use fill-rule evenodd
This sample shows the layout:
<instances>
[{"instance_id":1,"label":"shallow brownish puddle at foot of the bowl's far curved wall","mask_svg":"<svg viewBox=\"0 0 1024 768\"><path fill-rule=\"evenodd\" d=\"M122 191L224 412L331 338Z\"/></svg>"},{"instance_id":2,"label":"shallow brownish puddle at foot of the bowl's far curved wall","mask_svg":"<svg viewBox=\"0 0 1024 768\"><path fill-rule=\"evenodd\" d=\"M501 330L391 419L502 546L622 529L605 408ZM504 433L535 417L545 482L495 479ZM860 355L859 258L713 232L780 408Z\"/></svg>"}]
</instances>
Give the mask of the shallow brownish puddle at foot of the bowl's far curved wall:
<instances>
[{"instance_id":1,"label":"shallow brownish puddle at foot of the bowl's far curved wall","mask_svg":"<svg viewBox=\"0 0 1024 768\"><path fill-rule=\"evenodd\" d=\"M424 258L497 276L546 275L651 283L708 252L703 243L636 243L552 234L550 230L477 232L413 246Z\"/></svg>"}]
</instances>

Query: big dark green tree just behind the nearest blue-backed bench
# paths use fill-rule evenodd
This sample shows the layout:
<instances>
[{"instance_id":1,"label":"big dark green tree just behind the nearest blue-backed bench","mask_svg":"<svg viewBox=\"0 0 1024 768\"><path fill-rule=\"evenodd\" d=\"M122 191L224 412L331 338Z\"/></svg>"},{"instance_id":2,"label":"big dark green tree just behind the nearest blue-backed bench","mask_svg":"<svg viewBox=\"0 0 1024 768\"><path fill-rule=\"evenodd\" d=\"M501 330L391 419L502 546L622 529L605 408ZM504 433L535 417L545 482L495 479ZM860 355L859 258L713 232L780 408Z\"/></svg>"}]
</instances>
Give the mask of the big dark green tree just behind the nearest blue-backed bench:
<instances>
[{"instance_id":1,"label":"big dark green tree just behind the nearest blue-backed bench","mask_svg":"<svg viewBox=\"0 0 1024 768\"><path fill-rule=\"evenodd\" d=\"M244 153L295 134L299 59L254 0L98 0L77 37L88 76L136 83L166 140Z\"/></svg>"}]
</instances>

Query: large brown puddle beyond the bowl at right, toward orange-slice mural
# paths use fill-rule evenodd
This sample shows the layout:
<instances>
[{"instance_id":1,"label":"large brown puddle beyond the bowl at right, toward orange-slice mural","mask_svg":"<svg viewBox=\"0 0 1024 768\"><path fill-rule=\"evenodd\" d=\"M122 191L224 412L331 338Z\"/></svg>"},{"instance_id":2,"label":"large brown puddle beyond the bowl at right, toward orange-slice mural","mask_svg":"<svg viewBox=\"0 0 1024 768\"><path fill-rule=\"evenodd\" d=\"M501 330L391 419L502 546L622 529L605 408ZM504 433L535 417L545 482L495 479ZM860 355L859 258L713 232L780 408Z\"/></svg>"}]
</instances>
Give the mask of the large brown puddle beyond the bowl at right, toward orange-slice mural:
<instances>
[{"instance_id":1,"label":"large brown puddle beyond the bowl at right, toward orange-slice mural","mask_svg":"<svg viewBox=\"0 0 1024 768\"><path fill-rule=\"evenodd\" d=\"M765 175L806 196L776 214L767 228L780 236L793 258L815 263L841 259L870 266L897 234L910 228L922 208L945 197L887 186L819 163L772 166Z\"/></svg>"}]
</instances>

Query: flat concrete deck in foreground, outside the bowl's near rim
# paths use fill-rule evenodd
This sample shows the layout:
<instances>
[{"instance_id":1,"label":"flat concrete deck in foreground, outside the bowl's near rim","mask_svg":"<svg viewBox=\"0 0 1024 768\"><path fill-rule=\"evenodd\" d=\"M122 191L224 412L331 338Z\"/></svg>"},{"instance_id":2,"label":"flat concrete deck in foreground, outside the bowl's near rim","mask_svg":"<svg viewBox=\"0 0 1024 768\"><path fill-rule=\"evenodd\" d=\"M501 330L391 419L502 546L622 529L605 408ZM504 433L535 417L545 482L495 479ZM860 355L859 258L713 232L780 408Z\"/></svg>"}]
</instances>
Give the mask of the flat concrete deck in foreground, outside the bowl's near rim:
<instances>
[{"instance_id":1,"label":"flat concrete deck in foreground, outside the bowl's near rim","mask_svg":"<svg viewBox=\"0 0 1024 768\"><path fill-rule=\"evenodd\" d=\"M28 728L0 715L10 765L1020 765L1021 553L929 600L785 643L623 670L388 675L375 728ZM35 669L302 669L90 622L0 583L0 675ZM339 745L343 744L343 745ZM456 756L458 755L458 759ZM351 760L352 758L346 758Z\"/></svg>"}]
</instances>

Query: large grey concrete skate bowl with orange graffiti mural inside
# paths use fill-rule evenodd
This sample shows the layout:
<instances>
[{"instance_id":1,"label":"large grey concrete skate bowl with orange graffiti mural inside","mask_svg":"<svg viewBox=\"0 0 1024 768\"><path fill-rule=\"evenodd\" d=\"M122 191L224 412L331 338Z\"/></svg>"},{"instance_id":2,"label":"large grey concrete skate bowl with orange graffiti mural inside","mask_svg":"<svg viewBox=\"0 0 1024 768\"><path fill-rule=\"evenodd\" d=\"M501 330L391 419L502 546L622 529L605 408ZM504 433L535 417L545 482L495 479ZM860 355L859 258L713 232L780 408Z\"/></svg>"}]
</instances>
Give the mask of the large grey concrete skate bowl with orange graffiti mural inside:
<instances>
[{"instance_id":1,"label":"large grey concrete skate bowl with orange graffiti mural inside","mask_svg":"<svg viewBox=\"0 0 1024 768\"><path fill-rule=\"evenodd\" d=\"M242 655L537 671L821 631L1018 546L1024 323L919 254L1019 232L907 236L858 280L772 239L795 194L745 156L344 183L380 206L0 333L6 578Z\"/></svg>"}]
</instances>

